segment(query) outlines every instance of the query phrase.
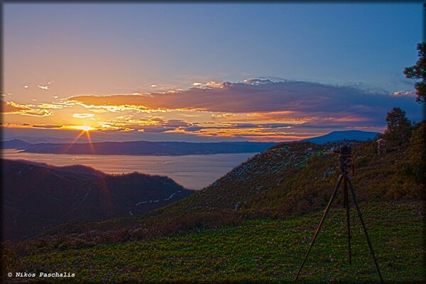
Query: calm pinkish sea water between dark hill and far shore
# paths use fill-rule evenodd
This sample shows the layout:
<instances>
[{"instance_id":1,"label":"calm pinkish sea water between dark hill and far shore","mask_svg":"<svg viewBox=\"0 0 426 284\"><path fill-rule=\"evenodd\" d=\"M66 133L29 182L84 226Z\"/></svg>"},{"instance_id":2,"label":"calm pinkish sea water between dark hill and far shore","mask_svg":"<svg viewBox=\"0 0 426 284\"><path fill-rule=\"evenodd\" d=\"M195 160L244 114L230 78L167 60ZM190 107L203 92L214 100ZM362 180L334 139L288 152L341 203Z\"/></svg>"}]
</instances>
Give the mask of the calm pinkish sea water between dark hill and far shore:
<instances>
[{"instance_id":1,"label":"calm pinkish sea water between dark hill and far shore","mask_svg":"<svg viewBox=\"0 0 426 284\"><path fill-rule=\"evenodd\" d=\"M87 165L104 173L145 173L166 175L187 189L201 190L256 153L214 155L68 155L22 153L2 149L2 157L31 160L49 165Z\"/></svg>"}]
</instances>

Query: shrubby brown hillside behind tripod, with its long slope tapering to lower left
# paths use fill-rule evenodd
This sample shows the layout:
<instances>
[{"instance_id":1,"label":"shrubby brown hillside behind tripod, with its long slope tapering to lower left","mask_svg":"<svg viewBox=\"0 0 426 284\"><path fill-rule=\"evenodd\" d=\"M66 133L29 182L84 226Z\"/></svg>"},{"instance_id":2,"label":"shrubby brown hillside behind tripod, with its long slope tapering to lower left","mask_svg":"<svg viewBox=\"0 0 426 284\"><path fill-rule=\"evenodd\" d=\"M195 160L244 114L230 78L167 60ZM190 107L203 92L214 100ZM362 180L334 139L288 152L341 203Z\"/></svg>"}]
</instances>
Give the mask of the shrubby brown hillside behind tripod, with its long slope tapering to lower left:
<instances>
[{"instance_id":1,"label":"shrubby brown hillside behind tripod, with its long slope tapering to lower left","mask_svg":"<svg viewBox=\"0 0 426 284\"><path fill-rule=\"evenodd\" d=\"M372 141L351 142L360 202L413 200L421 186L407 173L408 150L376 154ZM285 143L259 153L209 187L141 217L72 222L40 236L51 246L147 239L200 227L241 224L244 219L286 218L324 209L339 175L339 144ZM342 204L342 192L335 206ZM34 240L35 241L35 240Z\"/></svg>"}]
</instances>

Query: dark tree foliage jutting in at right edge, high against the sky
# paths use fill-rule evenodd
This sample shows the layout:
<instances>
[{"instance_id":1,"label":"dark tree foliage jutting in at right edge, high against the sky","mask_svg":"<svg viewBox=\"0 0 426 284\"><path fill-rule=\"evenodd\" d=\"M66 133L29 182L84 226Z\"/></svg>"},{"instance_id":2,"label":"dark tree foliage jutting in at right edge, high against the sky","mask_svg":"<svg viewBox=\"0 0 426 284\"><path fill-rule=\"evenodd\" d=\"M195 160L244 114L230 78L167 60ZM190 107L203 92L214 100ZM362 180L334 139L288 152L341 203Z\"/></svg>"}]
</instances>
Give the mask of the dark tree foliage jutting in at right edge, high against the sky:
<instances>
[{"instance_id":1,"label":"dark tree foliage jutting in at right edge, high against the sky","mask_svg":"<svg viewBox=\"0 0 426 284\"><path fill-rule=\"evenodd\" d=\"M409 79L419 80L415 82L416 102L426 103L426 43L417 44L419 60L411 67L405 67L404 75Z\"/></svg>"}]
</instances>

